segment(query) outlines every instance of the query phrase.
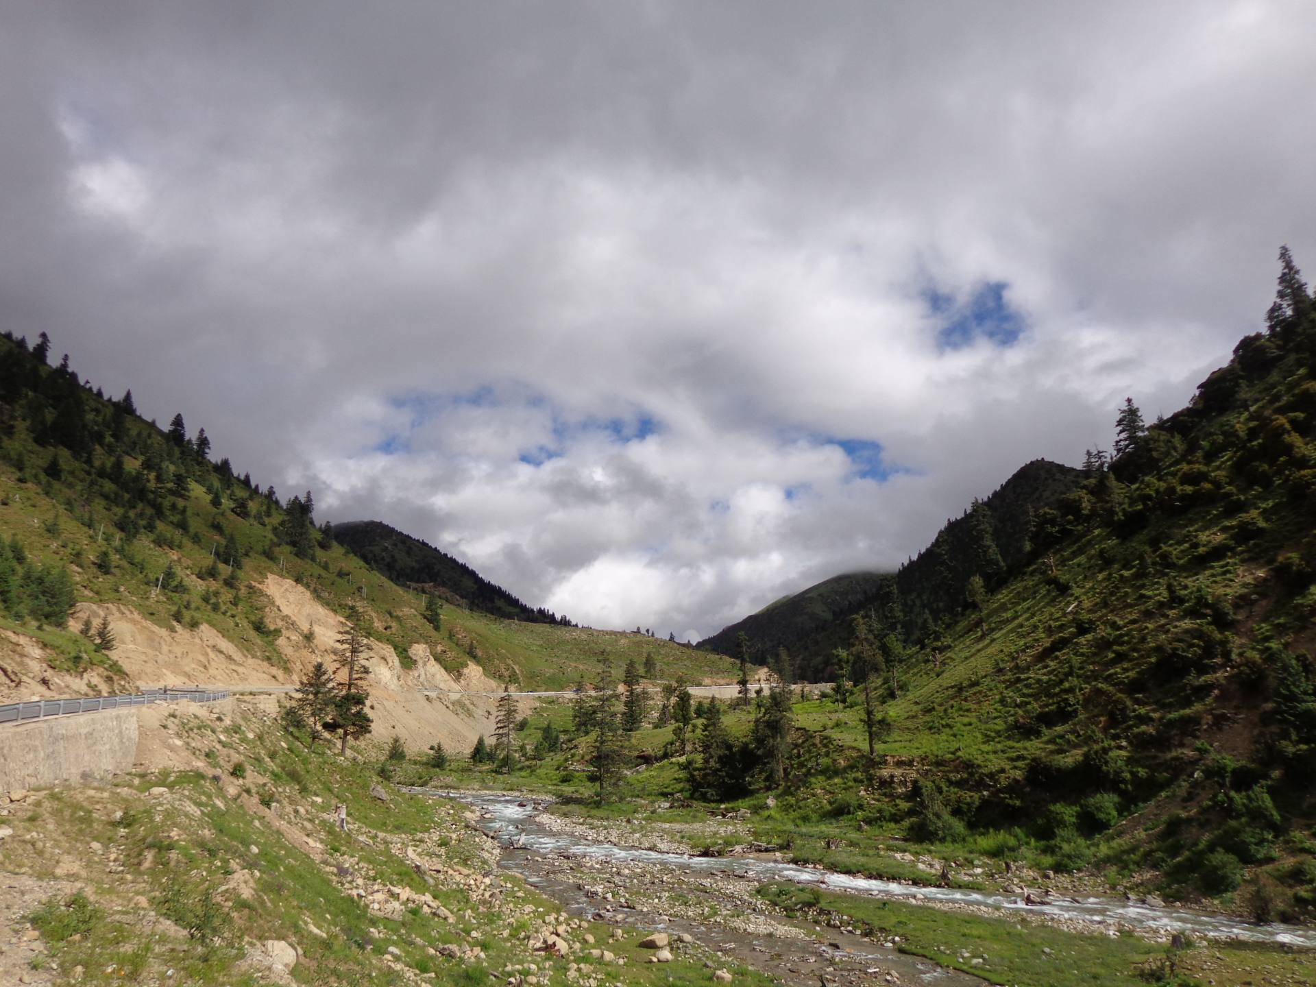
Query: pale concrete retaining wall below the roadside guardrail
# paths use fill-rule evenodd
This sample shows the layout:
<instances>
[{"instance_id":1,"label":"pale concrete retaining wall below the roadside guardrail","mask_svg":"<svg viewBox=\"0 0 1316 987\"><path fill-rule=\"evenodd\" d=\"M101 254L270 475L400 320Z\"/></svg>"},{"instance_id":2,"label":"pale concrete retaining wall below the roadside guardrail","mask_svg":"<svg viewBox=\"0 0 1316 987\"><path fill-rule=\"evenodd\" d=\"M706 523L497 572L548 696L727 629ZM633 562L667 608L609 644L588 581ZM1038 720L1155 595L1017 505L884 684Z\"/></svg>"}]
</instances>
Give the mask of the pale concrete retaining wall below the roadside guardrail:
<instances>
[{"instance_id":1,"label":"pale concrete retaining wall below the roadside guardrail","mask_svg":"<svg viewBox=\"0 0 1316 987\"><path fill-rule=\"evenodd\" d=\"M0 729L0 791L38 788L130 771L137 711L37 720Z\"/></svg>"}]
</instances>

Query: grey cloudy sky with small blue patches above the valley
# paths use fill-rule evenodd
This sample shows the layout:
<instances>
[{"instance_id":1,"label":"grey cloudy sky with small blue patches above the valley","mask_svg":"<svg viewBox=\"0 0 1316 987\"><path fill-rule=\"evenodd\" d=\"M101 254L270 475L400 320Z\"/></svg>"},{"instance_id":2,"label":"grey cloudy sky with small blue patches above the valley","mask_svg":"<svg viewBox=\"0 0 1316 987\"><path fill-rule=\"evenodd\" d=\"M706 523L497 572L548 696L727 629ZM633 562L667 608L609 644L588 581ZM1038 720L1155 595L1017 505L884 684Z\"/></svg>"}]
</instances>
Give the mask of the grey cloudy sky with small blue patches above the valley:
<instances>
[{"instance_id":1,"label":"grey cloudy sky with small blue patches above the valley","mask_svg":"<svg viewBox=\"0 0 1316 987\"><path fill-rule=\"evenodd\" d=\"M1316 272L1316 4L0 0L0 321L321 520L700 637Z\"/></svg>"}]
</instances>

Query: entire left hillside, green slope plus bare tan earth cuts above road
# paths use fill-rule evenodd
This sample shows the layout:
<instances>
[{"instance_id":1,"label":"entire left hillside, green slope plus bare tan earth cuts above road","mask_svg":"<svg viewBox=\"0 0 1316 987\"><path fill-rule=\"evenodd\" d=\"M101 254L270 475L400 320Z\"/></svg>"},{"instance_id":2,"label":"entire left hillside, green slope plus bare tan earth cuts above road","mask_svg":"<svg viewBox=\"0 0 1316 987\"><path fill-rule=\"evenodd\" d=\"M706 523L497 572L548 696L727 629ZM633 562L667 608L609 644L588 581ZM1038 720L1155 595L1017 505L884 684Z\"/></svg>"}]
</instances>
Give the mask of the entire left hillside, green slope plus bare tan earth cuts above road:
<instances>
[{"instance_id":1,"label":"entire left hillside, green slope plus bare tan earth cuts above road","mask_svg":"<svg viewBox=\"0 0 1316 987\"><path fill-rule=\"evenodd\" d=\"M204 428L182 413L166 429L142 420L130 391L107 397L67 357L55 363L45 334L34 345L0 334L0 701L292 684L315 661L332 663L350 601L363 607L382 715L413 707L396 724L409 742L443 719L421 688L565 688L600 659L620 670L649 657L662 676L730 674L720 655L561 626L505 594L482 612L501 591L450 562L467 580L451 583L453 599L475 608L434 607L393 582L317 522L311 491L280 496L213 462Z\"/></svg>"}]
</instances>

